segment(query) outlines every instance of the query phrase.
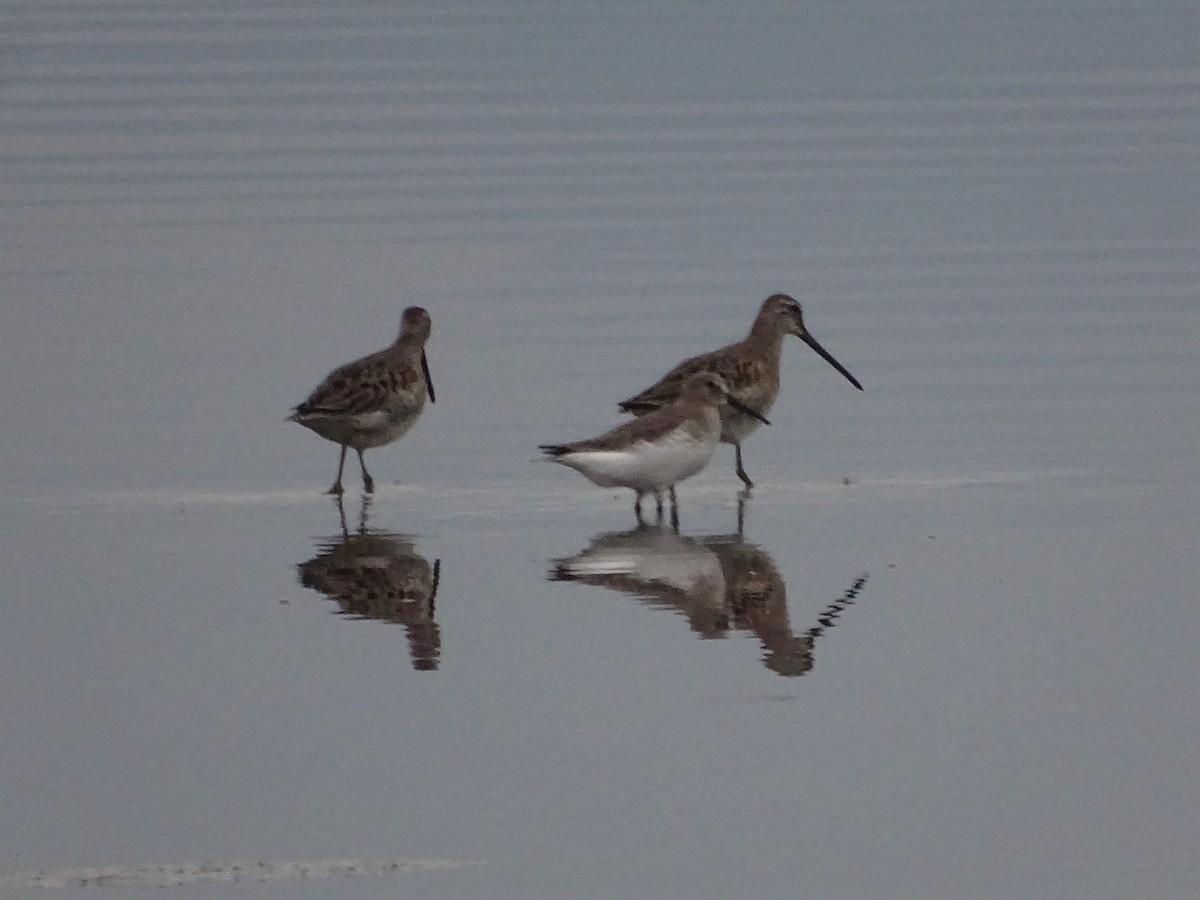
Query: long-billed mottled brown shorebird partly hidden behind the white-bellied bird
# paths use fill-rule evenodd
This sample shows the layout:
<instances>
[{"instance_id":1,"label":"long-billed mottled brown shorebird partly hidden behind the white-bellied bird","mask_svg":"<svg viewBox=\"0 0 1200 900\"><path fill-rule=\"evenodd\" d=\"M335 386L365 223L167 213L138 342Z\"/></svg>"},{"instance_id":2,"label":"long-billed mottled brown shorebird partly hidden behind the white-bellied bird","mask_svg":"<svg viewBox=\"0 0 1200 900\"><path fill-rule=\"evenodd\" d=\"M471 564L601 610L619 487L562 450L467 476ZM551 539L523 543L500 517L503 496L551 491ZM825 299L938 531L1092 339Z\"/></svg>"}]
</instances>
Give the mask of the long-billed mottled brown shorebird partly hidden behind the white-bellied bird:
<instances>
[{"instance_id":1,"label":"long-billed mottled brown shorebird partly hidden behind the white-bellied bird","mask_svg":"<svg viewBox=\"0 0 1200 900\"><path fill-rule=\"evenodd\" d=\"M785 335L799 337L841 372L846 380L863 390L858 379L809 334L800 305L786 294L774 294L763 301L750 326L750 334L744 338L719 350L685 359L641 394L623 400L618 406L626 413L647 415L678 397L690 376L712 372L725 379L731 397L766 415L779 395L779 358ZM742 466L742 442L758 427L758 416L746 415L732 402L721 408L720 415L721 443L733 444L738 478L748 488L754 487L754 481Z\"/></svg>"}]
</instances>

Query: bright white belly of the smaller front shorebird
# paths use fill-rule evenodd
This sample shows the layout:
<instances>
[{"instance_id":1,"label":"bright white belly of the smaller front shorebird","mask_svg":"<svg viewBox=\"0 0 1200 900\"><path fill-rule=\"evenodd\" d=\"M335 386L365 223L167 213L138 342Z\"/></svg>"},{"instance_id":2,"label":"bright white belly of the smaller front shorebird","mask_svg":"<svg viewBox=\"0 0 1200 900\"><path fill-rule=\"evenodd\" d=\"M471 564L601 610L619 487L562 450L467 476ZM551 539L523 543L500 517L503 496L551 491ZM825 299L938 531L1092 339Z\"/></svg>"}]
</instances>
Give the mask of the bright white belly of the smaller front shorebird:
<instances>
[{"instance_id":1,"label":"bright white belly of the smaller front shorebird","mask_svg":"<svg viewBox=\"0 0 1200 900\"><path fill-rule=\"evenodd\" d=\"M715 446L715 434L698 438L680 427L654 442L640 440L614 450L581 450L559 462L600 487L662 491L704 468Z\"/></svg>"}]
</instances>

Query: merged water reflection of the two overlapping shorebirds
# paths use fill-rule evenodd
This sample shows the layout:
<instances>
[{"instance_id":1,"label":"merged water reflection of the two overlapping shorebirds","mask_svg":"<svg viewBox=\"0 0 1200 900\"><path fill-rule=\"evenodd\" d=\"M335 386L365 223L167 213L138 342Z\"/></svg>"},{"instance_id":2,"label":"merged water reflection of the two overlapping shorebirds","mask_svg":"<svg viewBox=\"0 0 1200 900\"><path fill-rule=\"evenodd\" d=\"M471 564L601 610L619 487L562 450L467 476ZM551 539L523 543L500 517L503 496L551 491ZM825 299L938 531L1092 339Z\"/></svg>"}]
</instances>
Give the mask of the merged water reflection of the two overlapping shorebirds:
<instances>
[{"instance_id":1,"label":"merged water reflection of the two overlapping shorebirds","mask_svg":"<svg viewBox=\"0 0 1200 900\"><path fill-rule=\"evenodd\" d=\"M790 677L812 668L816 638L866 584L864 572L815 626L797 634L784 578L767 551L740 535L685 538L661 526L601 534L586 550L556 560L548 578L619 590L674 610L702 640L750 631L762 643L763 665Z\"/></svg>"}]
</instances>

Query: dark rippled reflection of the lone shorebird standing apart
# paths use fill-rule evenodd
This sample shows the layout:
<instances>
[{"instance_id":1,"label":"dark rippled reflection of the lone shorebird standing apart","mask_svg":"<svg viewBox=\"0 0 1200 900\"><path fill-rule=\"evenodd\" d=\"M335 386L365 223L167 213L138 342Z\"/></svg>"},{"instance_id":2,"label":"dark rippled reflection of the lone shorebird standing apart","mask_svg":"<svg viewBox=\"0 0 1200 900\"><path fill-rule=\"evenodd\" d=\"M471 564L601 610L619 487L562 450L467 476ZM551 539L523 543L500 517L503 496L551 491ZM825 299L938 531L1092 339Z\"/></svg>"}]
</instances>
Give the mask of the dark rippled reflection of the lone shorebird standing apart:
<instances>
[{"instance_id":1,"label":"dark rippled reflection of the lone shorebird standing apart","mask_svg":"<svg viewBox=\"0 0 1200 900\"><path fill-rule=\"evenodd\" d=\"M359 527L346 527L342 498L336 498L342 533L318 542L320 552L296 569L300 583L325 594L342 616L403 625L413 668L432 671L442 653L442 632L433 619L442 560L428 560L410 535L367 528L371 498L362 497Z\"/></svg>"}]
</instances>

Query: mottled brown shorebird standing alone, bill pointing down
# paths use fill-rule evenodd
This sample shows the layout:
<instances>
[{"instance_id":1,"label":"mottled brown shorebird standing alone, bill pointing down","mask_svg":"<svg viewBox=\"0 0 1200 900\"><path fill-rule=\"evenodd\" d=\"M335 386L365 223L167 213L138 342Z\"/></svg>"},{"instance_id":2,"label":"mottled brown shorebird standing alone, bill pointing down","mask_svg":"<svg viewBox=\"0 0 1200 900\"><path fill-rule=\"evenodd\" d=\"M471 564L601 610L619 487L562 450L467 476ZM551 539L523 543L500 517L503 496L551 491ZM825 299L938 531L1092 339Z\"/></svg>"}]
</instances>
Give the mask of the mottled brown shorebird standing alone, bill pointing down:
<instances>
[{"instance_id":1,"label":"mottled brown shorebird standing alone, bill pointing down","mask_svg":"<svg viewBox=\"0 0 1200 900\"><path fill-rule=\"evenodd\" d=\"M292 410L288 421L299 422L326 440L341 444L337 478L329 493L342 493L346 450L354 448L362 468L362 487L374 491L362 451L398 440L434 402L425 342L430 340L430 314L409 306L400 320L400 335L386 349L347 362L330 372L308 398Z\"/></svg>"}]
</instances>

